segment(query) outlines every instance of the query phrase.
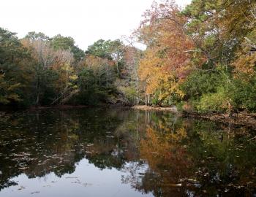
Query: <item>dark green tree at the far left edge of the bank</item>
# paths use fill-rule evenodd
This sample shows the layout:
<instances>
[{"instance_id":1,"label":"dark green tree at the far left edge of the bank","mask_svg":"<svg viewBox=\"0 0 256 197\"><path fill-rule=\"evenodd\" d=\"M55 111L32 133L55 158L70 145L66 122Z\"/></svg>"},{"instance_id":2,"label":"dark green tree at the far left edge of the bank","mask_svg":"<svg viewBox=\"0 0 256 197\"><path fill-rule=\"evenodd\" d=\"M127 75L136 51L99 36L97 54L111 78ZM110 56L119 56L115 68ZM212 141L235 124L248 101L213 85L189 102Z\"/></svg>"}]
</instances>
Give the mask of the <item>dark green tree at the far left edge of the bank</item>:
<instances>
[{"instance_id":1,"label":"dark green tree at the far left edge of the bank","mask_svg":"<svg viewBox=\"0 0 256 197\"><path fill-rule=\"evenodd\" d=\"M0 104L20 104L29 95L32 62L15 33L0 28Z\"/></svg>"}]
</instances>

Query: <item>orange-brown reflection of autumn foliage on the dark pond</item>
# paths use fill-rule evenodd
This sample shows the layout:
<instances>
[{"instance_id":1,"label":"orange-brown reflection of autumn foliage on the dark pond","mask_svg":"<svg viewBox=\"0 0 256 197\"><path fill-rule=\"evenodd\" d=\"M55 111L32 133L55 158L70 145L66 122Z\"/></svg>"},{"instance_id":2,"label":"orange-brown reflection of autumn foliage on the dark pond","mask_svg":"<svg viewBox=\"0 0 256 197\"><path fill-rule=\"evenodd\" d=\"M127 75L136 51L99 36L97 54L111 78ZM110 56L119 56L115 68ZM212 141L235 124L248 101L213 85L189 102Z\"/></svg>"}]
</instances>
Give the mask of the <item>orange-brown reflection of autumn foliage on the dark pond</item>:
<instances>
[{"instance_id":1,"label":"orange-brown reflection of autumn foliage on the dark pond","mask_svg":"<svg viewBox=\"0 0 256 197\"><path fill-rule=\"evenodd\" d=\"M154 171L159 171L161 163L165 163L173 172L184 173L190 161L186 149L180 142L186 137L187 131L184 127L177 130L170 126L166 127L166 124L162 124L161 128L148 127L146 139L140 141L140 155L148 161L148 165ZM166 178L167 181L169 179L170 176Z\"/></svg>"}]
</instances>

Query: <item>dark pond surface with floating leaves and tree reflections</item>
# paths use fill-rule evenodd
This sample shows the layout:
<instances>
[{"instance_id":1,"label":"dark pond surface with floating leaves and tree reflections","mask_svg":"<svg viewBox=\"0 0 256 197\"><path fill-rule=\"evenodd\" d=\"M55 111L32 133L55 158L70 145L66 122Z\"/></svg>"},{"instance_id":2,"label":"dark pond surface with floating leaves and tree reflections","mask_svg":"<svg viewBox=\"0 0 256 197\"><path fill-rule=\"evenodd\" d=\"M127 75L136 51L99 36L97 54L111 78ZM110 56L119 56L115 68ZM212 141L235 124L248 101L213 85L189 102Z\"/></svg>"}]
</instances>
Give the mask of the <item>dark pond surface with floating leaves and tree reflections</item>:
<instances>
[{"instance_id":1,"label":"dark pond surface with floating leaves and tree reflections","mask_svg":"<svg viewBox=\"0 0 256 197\"><path fill-rule=\"evenodd\" d=\"M0 196L256 196L255 131L169 112L0 117Z\"/></svg>"}]
</instances>

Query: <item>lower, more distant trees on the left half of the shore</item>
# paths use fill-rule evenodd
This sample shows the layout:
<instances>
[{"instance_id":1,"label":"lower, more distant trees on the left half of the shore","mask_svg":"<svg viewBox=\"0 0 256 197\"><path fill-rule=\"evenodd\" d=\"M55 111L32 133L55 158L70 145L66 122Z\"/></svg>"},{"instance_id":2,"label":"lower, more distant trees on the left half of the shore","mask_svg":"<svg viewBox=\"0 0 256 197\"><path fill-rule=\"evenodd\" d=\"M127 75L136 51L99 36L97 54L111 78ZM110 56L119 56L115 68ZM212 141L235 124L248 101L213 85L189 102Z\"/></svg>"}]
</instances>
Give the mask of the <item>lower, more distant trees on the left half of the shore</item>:
<instances>
[{"instance_id":1,"label":"lower, more distant trees on the left half of the shore","mask_svg":"<svg viewBox=\"0 0 256 197\"><path fill-rule=\"evenodd\" d=\"M139 56L119 39L100 39L84 52L72 37L29 32L18 39L0 28L0 104L132 104Z\"/></svg>"}]
</instances>

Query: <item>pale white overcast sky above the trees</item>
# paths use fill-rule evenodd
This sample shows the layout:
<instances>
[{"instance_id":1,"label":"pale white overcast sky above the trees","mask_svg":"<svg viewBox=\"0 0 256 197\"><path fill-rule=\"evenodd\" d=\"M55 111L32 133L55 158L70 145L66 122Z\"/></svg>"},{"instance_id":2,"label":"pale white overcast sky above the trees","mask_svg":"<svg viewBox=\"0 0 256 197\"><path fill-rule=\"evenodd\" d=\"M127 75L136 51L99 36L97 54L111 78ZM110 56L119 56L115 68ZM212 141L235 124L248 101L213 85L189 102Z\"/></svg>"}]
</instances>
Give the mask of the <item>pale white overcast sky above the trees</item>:
<instances>
[{"instance_id":1,"label":"pale white overcast sky above the trees","mask_svg":"<svg viewBox=\"0 0 256 197\"><path fill-rule=\"evenodd\" d=\"M191 0L176 0L184 7ZM1 0L0 27L72 36L83 50L98 39L129 36L153 0Z\"/></svg>"}]
</instances>

